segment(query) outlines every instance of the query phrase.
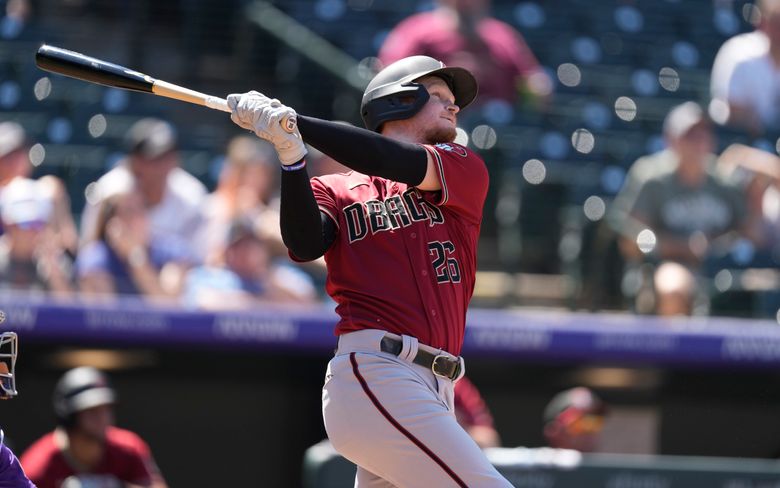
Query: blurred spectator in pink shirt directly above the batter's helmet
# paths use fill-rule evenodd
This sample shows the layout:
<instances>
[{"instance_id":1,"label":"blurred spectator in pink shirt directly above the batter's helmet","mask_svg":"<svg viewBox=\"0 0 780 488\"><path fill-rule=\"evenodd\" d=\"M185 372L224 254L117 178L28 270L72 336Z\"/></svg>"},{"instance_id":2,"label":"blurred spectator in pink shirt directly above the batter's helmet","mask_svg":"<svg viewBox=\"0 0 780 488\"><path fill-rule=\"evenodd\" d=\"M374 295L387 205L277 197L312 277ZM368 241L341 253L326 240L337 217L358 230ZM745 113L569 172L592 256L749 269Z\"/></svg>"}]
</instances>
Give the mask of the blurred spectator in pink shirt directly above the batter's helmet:
<instances>
[{"instance_id":1,"label":"blurred spectator in pink shirt directly above the batter's helmet","mask_svg":"<svg viewBox=\"0 0 780 488\"><path fill-rule=\"evenodd\" d=\"M518 98L546 100L552 82L522 35L490 16L490 0L438 0L432 11L401 21L379 51L384 66L423 54L471 71L480 103Z\"/></svg>"}]
</instances>

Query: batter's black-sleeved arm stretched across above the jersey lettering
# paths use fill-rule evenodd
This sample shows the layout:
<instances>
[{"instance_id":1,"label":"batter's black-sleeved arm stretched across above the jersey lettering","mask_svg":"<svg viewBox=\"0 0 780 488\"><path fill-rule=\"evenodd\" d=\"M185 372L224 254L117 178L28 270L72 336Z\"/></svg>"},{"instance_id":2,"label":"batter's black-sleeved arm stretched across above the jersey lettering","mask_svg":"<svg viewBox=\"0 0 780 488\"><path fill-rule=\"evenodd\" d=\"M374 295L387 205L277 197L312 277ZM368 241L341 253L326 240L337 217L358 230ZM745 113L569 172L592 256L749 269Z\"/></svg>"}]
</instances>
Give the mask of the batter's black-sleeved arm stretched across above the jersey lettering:
<instances>
[{"instance_id":1,"label":"batter's black-sleeved arm stretched across above the jersey lettering","mask_svg":"<svg viewBox=\"0 0 780 488\"><path fill-rule=\"evenodd\" d=\"M418 185L428 168L425 149L348 124L298 115L304 142L363 174Z\"/></svg>"}]
</instances>

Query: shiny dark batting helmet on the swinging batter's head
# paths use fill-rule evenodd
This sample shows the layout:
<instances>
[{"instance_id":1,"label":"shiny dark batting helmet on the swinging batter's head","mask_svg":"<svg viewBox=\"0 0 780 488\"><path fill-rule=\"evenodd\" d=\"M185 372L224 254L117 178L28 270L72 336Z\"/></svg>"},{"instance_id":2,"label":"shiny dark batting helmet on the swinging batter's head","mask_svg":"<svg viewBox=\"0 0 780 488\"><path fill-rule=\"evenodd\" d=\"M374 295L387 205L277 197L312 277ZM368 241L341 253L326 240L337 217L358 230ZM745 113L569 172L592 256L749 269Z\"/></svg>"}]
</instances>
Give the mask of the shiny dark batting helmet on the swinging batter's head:
<instances>
[{"instance_id":1,"label":"shiny dark batting helmet on the swinging batter's head","mask_svg":"<svg viewBox=\"0 0 780 488\"><path fill-rule=\"evenodd\" d=\"M423 76L442 78L455 95L455 104L465 108L477 96L477 80L464 68L447 67L428 56L400 59L377 73L363 93L360 114L366 128L379 132L389 120L408 119L428 101L425 87L415 81Z\"/></svg>"}]
</instances>

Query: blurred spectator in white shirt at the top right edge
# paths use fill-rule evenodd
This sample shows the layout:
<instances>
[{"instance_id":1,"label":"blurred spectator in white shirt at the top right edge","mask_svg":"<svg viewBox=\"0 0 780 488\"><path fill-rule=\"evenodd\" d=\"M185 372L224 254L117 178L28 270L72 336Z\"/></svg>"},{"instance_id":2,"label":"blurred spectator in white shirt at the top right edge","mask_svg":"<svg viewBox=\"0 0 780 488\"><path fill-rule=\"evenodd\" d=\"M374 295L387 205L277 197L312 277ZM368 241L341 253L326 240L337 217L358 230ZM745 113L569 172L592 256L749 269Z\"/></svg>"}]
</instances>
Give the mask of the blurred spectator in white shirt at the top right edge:
<instances>
[{"instance_id":1,"label":"blurred spectator in white shirt at the top right edge","mask_svg":"<svg viewBox=\"0 0 780 488\"><path fill-rule=\"evenodd\" d=\"M725 100L730 124L760 134L780 129L780 94L776 88L780 83L777 68L780 65L780 0L761 0L756 7L757 29L766 41L758 34L738 41L736 47L741 52L734 62L730 78L727 78ZM723 64L716 67L722 69ZM726 75L713 72L713 76ZM719 90L717 83L715 89Z\"/></svg>"}]
</instances>

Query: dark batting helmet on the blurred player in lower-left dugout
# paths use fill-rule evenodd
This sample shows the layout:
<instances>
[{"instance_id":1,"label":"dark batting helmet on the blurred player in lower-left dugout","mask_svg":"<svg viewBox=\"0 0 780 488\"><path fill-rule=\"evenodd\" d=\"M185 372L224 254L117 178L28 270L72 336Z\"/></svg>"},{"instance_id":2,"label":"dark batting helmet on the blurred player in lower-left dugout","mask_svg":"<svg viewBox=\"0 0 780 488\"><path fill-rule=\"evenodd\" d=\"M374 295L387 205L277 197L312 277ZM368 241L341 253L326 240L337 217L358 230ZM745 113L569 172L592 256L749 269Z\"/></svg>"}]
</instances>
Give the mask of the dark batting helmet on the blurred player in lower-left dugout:
<instances>
[{"instance_id":1,"label":"dark batting helmet on the blurred player in lower-left dugout","mask_svg":"<svg viewBox=\"0 0 780 488\"><path fill-rule=\"evenodd\" d=\"M95 368L82 366L66 372L54 387L54 413L63 425L73 422L76 413L116 402L108 378Z\"/></svg>"}]
</instances>

